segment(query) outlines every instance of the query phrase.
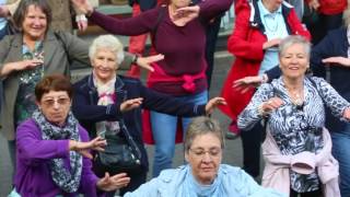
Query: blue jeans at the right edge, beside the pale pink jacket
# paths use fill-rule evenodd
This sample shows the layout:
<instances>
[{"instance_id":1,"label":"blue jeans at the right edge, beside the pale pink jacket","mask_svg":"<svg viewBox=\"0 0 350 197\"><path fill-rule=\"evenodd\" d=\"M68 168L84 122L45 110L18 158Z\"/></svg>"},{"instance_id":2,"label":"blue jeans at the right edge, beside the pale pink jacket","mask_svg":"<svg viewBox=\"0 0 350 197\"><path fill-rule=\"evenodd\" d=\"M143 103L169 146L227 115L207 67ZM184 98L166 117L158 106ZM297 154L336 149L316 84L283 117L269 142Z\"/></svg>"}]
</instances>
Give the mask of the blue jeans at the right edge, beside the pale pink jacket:
<instances>
[{"instance_id":1,"label":"blue jeans at the right edge, beside the pale pink jacket","mask_svg":"<svg viewBox=\"0 0 350 197\"><path fill-rule=\"evenodd\" d=\"M350 196L350 124L339 132L330 132L332 155L339 162L340 193Z\"/></svg>"}]
</instances>

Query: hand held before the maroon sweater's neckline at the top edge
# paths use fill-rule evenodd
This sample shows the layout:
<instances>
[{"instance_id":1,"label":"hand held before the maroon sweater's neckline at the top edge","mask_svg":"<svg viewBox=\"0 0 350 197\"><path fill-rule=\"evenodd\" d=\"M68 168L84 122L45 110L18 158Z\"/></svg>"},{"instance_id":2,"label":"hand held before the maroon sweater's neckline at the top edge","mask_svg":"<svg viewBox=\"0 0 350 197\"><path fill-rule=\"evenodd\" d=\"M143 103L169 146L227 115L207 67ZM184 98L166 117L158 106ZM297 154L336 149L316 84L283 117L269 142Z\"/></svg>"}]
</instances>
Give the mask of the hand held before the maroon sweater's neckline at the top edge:
<instances>
[{"instance_id":1,"label":"hand held before the maroon sweater's neckline at the top edge","mask_svg":"<svg viewBox=\"0 0 350 197\"><path fill-rule=\"evenodd\" d=\"M200 8L198 5L177 9L173 15L174 22L179 26L185 26L188 22L198 18Z\"/></svg>"}]
</instances>

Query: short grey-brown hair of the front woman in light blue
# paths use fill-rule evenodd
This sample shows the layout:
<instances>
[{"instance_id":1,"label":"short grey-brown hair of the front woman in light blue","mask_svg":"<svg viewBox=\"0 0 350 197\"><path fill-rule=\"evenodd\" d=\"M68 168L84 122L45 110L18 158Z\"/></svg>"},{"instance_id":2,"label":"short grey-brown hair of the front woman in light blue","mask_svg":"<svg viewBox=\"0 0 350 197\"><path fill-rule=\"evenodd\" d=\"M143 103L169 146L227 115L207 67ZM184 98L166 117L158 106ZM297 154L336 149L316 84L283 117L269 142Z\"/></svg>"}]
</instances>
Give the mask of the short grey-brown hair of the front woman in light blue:
<instances>
[{"instance_id":1,"label":"short grey-brown hair of the front woman in light blue","mask_svg":"<svg viewBox=\"0 0 350 197\"><path fill-rule=\"evenodd\" d=\"M185 136L184 151L187 152L190 149L197 136L207 134L217 136L220 140L221 148L223 149L225 147L224 136L220 128L219 121L210 117L200 116L194 118L194 120L188 126Z\"/></svg>"}]
</instances>

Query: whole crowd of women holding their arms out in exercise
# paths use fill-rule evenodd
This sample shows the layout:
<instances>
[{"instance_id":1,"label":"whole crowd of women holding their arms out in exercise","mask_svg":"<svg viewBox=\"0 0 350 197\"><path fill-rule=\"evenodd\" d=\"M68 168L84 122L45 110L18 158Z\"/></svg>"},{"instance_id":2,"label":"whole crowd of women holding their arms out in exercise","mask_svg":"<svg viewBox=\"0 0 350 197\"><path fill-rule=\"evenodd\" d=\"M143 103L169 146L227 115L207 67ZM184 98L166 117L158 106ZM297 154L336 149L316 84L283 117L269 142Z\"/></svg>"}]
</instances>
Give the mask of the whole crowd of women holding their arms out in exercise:
<instances>
[{"instance_id":1,"label":"whole crowd of women holding their arms out in exercise","mask_svg":"<svg viewBox=\"0 0 350 197\"><path fill-rule=\"evenodd\" d=\"M328 1L139 0L130 2L135 15L128 19L100 13L95 0L0 1L0 121L14 169L10 196L350 196L350 9L347 1ZM235 59L222 97L209 100L214 26L233 3L228 50ZM80 31L89 20L132 36L135 54L110 34L82 40L71 14ZM73 61L92 68L74 84ZM120 68L130 69L128 76ZM140 68L149 71L145 85ZM241 136L243 169L221 164L224 132L208 117L214 108ZM185 164L172 169L176 142L184 142ZM136 167L101 167L112 143L129 144ZM144 143L154 144L148 183ZM255 179L260 149L261 186Z\"/></svg>"}]
</instances>

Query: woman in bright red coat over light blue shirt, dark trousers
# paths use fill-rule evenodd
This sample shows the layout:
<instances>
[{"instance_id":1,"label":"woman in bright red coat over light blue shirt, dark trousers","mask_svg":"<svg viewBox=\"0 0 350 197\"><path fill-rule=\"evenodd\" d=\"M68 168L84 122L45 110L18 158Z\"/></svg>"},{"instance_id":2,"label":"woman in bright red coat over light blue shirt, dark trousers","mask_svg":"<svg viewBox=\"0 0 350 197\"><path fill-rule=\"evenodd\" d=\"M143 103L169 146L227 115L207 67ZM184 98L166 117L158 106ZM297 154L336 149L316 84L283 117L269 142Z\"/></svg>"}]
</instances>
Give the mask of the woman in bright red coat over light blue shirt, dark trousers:
<instances>
[{"instance_id":1,"label":"woman in bright red coat over light blue shirt, dark trousers","mask_svg":"<svg viewBox=\"0 0 350 197\"><path fill-rule=\"evenodd\" d=\"M281 0L238 1L236 20L228 49L235 56L232 69L225 80L222 96L228 101L221 109L232 119L230 130L240 132L238 114L249 103L255 90L241 93L232 89L233 81L246 76L261 74L278 65L277 47L288 35L310 38L294 9ZM243 169L256 177L260 166L261 125L256 124L250 132L242 132Z\"/></svg>"}]
</instances>

